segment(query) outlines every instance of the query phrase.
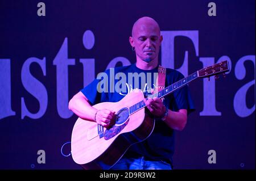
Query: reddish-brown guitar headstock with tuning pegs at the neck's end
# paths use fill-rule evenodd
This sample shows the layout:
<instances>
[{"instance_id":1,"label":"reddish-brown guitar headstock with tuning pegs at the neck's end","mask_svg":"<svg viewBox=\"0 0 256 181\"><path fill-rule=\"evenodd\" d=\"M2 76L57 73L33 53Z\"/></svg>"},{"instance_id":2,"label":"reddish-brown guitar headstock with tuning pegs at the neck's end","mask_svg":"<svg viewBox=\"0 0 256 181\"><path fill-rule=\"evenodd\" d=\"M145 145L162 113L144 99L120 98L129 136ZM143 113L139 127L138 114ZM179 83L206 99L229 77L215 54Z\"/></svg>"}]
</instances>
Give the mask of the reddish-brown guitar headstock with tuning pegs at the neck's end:
<instances>
[{"instance_id":1,"label":"reddish-brown guitar headstock with tuning pegs at the neck's end","mask_svg":"<svg viewBox=\"0 0 256 181\"><path fill-rule=\"evenodd\" d=\"M208 66L207 68L198 70L198 77L211 77L212 75L217 75L220 73L225 74L226 71L229 71L229 62L228 61L222 61L218 64L213 64L211 66Z\"/></svg>"}]
</instances>

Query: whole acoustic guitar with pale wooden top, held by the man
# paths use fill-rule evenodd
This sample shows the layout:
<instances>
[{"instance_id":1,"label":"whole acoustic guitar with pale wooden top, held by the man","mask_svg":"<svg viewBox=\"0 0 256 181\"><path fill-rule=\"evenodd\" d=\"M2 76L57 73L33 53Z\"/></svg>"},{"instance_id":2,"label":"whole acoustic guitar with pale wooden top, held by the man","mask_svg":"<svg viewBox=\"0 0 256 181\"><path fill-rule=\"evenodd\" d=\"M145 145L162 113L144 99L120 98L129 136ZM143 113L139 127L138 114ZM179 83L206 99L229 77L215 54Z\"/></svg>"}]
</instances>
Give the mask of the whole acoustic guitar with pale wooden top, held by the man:
<instances>
[{"instance_id":1,"label":"whole acoustic guitar with pale wooden top, held by the man","mask_svg":"<svg viewBox=\"0 0 256 181\"><path fill-rule=\"evenodd\" d=\"M180 79L148 97L163 98L196 78L211 77L229 71L228 61L208 66ZM144 95L133 90L119 102L103 102L93 107L115 111L115 124L106 129L91 120L77 119L71 138L73 160L84 169L110 169L133 144L146 140L154 130L155 120L145 113ZM147 99L147 98L146 98Z\"/></svg>"}]
</instances>

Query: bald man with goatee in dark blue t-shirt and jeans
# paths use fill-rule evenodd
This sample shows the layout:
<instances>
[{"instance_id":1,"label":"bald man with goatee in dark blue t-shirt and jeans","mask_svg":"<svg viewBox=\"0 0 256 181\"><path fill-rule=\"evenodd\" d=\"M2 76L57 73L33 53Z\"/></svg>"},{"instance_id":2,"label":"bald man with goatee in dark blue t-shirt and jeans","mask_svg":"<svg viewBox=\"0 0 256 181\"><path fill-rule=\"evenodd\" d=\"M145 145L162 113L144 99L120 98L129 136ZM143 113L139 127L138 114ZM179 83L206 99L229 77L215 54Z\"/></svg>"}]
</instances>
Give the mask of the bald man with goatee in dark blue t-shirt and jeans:
<instances>
[{"instance_id":1,"label":"bald man with goatee in dark blue t-shirt and jeans","mask_svg":"<svg viewBox=\"0 0 256 181\"><path fill-rule=\"evenodd\" d=\"M158 54L162 40L163 36L160 35L159 25L154 19L150 17L138 19L134 23L132 36L129 37L131 47L136 54L136 64L115 68L114 73L124 73L126 77L129 77L128 73L144 73L146 76L150 73L152 74L151 82L155 83L156 80L154 80L153 74L158 73ZM105 73L109 75L110 71L106 70ZM171 85L182 78L184 76L179 71L166 69L165 86ZM69 110L72 110L82 119L96 121L103 127L108 128L114 124L115 112L108 110L108 108L97 110L92 105L100 102L118 102L124 97L124 94L117 91L99 92L97 91L98 82L100 80L95 79L73 96L69 102ZM143 90L142 82L134 79L131 86L133 89ZM154 84L150 81L147 82L147 86L149 86L149 89L154 88ZM144 99L144 102L147 111L156 118L154 131L146 140L132 145L111 169L171 170L173 168L174 131L184 129L188 113L195 109L188 86L169 94L164 100L148 98L147 100Z\"/></svg>"}]
</instances>

